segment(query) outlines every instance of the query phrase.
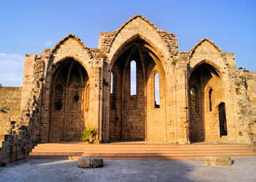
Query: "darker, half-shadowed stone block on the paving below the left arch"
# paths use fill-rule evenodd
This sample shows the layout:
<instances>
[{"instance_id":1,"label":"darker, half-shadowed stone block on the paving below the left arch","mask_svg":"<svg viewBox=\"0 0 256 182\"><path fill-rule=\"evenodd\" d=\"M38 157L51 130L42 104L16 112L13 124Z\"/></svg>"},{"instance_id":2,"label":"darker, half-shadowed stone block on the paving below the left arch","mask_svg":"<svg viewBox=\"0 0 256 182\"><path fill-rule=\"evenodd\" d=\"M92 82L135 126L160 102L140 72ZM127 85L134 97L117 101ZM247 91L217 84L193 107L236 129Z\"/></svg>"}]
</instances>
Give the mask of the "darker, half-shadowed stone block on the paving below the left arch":
<instances>
[{"instance_id":1,"label":"darker, half-shadowed stone block on the paving below the left arch","mask_svg":"<svg viewBox=\"0 0 256 182\"><path fill-rule=\"evenodd\" d=\"M98 157L79 157L78 167L80 168L103 167L103 159Z\"/></svg>"}]
</instances>

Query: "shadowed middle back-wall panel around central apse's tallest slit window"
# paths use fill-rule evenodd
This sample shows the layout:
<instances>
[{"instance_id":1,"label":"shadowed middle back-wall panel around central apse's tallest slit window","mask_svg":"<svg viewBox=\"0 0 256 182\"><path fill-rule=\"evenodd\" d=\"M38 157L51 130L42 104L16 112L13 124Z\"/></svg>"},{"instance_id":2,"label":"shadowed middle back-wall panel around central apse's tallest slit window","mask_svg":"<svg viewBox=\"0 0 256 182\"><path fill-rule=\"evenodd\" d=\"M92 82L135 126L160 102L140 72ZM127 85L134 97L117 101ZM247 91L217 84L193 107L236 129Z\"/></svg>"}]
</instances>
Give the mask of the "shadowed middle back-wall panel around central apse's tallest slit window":
<instances>
[{"instance_id":1,"label":"shadowed middle back-wall panel around central apse's tallest slit window","mask_svg":"<svg viewBox=\"0 0 256 182\"><path fill-rule=\"evenodd\" d=\"M130 61L136 62L136 87L137 94L131 95L131 68ZM138 56L130 58L124 74L123 102L122 102L122 126L121 137L123 141L144 141L146 121L146 95L142 63Z\"/></svg>"}]
</instances>

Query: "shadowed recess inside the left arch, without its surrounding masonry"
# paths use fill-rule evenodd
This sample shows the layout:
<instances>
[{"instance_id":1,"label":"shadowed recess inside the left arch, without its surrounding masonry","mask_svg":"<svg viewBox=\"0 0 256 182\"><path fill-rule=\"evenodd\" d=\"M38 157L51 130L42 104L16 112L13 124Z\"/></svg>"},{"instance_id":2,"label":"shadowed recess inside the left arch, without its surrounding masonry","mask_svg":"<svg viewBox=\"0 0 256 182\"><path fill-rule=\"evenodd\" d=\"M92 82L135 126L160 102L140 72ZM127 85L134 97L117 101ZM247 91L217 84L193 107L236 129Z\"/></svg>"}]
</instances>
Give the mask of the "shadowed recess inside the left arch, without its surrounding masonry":
<instances>
[{"instance_id":1,"label":"shadowed recess inside the left arch, without its surrounding masonry","mask_svg":"<svg viewBox=\"0 0 256 182\"><path fill-rule=\"evenodd\" d=\"M52 80L48 141L80 141L89 109L87 71L69 58L58 64Z\"/></svg>"}]
</instances>

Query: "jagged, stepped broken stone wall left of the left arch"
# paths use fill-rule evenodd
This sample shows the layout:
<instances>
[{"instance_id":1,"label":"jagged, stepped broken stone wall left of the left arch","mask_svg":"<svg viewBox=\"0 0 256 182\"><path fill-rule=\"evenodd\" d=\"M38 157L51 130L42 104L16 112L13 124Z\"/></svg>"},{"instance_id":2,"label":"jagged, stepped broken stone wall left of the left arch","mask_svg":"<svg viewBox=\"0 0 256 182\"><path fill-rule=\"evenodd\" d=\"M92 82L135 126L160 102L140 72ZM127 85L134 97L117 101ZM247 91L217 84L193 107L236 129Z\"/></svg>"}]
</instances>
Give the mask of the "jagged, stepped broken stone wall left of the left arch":
<instances>
[{"instance_id":1,"label":"jagged, stepped broken stone wall left of the left arch","mask_svg":"<svg viewBox=\"0 0 256 182\"><path fill-rule=\"evenodd\" d=\"M21 117L18 119L18 124L12 129L16 134L0 135L0 165L8 165L20 159L25 159L31 149L39 143L39 127L41 124L42 106L42 73L43 61L39 55L34 56L31 60L32 78L31 90L26 92L26 103L23 103ZM24 73L26 74L26 73Z\"/></svg>"}]
</instances>

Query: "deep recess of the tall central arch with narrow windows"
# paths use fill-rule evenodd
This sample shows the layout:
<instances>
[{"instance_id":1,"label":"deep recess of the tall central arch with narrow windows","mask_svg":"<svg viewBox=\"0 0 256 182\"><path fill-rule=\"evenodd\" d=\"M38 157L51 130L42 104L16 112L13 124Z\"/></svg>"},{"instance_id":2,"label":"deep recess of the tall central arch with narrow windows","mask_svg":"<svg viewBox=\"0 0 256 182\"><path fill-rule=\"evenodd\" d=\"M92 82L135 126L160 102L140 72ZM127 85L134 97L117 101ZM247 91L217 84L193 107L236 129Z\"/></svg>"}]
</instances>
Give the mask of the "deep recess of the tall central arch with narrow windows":
<instances>
[{"instance_id":1,"label":"deep recess of the tall central arch with narrow windows","mask_svg":"<svg viewBox=\"0 0 256 182\"><path fill-rule=\"evenodd\" d=\"M113 92L110 93L110 141L164 141L165 125L165 71L161 61L145 47L139 37L121 48L113 60ZM132 93L132 62L135 62L136 92ZM160 82L161 107L156 108L154 75ZM111 79L110 79L111 80ZM156 127L157 126L157 127Z\"/></svg>"}]
</instances>

